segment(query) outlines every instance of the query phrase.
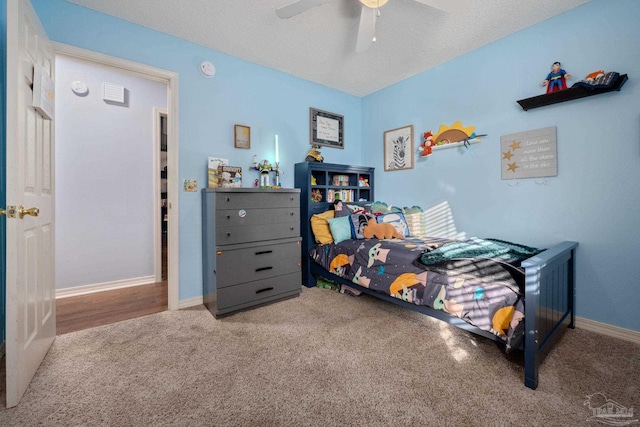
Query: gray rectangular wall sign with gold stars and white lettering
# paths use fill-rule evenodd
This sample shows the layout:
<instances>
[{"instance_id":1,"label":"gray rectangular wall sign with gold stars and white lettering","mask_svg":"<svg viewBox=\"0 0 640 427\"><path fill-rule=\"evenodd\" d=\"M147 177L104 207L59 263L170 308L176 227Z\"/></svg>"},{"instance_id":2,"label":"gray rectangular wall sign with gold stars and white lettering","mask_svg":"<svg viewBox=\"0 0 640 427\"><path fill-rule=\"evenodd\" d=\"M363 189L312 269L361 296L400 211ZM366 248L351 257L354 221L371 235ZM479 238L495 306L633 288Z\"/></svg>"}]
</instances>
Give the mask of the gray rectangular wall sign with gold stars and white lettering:
<instances>
[{"instance_id":1,"label":"gray rectangular wall sign with gold stars and white lettering","mask_svg":"<svg viewBox=\"0 0 640 427\"><path fill-rule=\"evenodd\" d=\"M556 129L551 126L501 136L502 179L557 176Z\"/></svg>"}]
</instances>

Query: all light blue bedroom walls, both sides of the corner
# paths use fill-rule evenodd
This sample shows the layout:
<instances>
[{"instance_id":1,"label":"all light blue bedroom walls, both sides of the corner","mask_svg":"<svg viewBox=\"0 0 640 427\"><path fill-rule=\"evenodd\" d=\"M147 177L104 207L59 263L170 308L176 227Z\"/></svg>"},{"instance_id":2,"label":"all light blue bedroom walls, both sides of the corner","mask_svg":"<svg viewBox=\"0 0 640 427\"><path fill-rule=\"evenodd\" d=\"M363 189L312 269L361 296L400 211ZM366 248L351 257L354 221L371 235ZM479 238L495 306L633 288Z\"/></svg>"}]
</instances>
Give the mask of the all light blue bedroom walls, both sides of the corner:
<instances>
[{"instance_id":1,"label":"all light blue bedroom walls, both sides of the corner","mask_svg":"<svg viewBox=\"0 0 640 427\"><path fill-rule=\"evenodd\" d=\"M363 99L62 0L33 4L53 40L179 73L180 181L203 183L209 155L245 167L253 154L272 157L278 133L283 184L292 186L293 164L308 148L308 108L340 113L346 149L323 150L326 161L375 166L376 194L393 204L448 201L468 235L535 246L579 241L578 315L640 330L640 2L593 0ZM214 79L200 76L202 60L216 64ZM524 112L516 100L543 93L554 61L574 81L600 68L630 80L619 93ZM456 120L489 136L467 152L442 150L410 171L383 172L385 130L413 124L419 140ZM235 123L251 126L252 150L232 148ZM548 126L558 128L558 176L502 181L500 136ZM201 294L199 194L181 193L180 209L186 299Z\"/></svg>"}]
</instances>

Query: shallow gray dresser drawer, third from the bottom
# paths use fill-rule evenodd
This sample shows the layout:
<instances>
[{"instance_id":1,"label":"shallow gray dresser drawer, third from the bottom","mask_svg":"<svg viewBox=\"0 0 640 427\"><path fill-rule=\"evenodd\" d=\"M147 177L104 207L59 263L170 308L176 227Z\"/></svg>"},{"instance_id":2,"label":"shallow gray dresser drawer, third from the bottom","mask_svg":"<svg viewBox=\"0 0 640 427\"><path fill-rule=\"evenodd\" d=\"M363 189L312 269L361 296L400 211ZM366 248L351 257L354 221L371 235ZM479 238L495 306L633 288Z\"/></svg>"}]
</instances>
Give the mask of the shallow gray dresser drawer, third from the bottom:
<instances>
[{"instance_id":1,"label":"shallow gray dresser drawer, third from the bottom","mask_svg":"<svg viewBox=\"0 0 640 427\"><path fill-rule=\"evenodd\" d=\"M300 221L282 224L250 224L240 227L218 227L216 245L287 239L300 236ZM300 254L298 254L300 255Z\"/></svg>"}]
</instances>

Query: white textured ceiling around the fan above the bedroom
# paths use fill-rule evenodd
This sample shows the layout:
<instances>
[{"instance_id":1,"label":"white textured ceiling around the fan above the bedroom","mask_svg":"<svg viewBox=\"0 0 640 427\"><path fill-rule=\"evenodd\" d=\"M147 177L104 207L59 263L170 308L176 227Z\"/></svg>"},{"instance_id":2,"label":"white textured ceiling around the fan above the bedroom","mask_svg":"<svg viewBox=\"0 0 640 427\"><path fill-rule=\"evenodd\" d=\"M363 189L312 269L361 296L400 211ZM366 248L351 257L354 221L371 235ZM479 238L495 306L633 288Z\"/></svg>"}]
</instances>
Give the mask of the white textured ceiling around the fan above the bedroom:
<instances>
[{"instance_id":1,"label":"white textured ceiling around the fan above the bedroom","mask_svg":"<svg viewBox=\"0 0 640 427\"><path fill-rule=\"evenodd\" d=\"M67 1L365 96L589 0L469 0L457 14L389 0L377 42L358 54L358 0L332 0L289 19L275 10L293 0Z\"/></svg>"}]
</instances>

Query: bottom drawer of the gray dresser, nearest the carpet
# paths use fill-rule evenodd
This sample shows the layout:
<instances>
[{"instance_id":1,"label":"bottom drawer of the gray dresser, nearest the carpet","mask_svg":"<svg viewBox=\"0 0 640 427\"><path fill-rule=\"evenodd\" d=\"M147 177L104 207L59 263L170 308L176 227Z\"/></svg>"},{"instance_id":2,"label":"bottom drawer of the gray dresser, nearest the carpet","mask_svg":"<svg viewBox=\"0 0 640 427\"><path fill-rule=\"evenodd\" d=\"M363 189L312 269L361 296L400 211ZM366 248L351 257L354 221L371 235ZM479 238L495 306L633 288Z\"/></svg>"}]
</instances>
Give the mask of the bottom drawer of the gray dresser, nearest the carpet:
<instances>
[{"instance_id":1,"label":"bottom drawer of the gray dresser, nearest the carpet","mask_svg":"<svg viewBox=\"0 0 640 427\"><path fill-rule=\"evenodd\" d=\"M229 286L217 291L218 314L261 304L300 293L302 275L298 271L283 276Z\"/></svg>"}]
</instances>

